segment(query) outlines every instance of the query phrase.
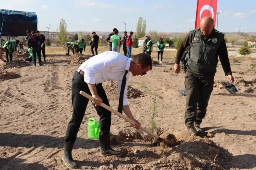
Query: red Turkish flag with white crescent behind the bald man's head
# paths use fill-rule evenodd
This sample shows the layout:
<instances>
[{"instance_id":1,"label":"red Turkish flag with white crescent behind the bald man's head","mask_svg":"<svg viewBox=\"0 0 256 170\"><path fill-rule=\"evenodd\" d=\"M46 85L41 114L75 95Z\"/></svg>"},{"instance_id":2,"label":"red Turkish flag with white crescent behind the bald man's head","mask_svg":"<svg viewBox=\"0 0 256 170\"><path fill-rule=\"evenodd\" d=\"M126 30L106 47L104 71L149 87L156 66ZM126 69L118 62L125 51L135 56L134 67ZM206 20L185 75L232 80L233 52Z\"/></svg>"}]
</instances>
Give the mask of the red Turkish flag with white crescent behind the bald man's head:
<instances>
[{"instance_id":1,"label":"red Turkish flag with white crescent behind the bald man's head","mask_svg":"<svg viewBox=\"0 0 256 170\"><path fill-rule=\"evenodd\" d=\"M218 0L197 0L195 29L200 27L200 21L203 17L212 17L214 28L217 18L217 1Z\"/></svg>"}]
</instances>

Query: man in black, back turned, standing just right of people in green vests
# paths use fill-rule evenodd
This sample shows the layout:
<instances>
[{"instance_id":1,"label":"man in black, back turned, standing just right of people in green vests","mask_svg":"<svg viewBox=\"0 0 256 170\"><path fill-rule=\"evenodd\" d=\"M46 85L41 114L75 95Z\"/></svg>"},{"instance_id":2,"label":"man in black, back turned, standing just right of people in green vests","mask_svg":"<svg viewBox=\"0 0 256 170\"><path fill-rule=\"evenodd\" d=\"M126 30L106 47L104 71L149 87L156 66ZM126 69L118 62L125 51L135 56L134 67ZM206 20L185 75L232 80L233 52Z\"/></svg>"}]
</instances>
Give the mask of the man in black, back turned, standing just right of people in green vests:
<instances>
[{"instance_id":1,"label":"man in black, back turned, standing just right of people in green vests","mask_svg":"<svg viewBox=\"0 0 256 170\"><path fill-rule=\"evenodd\" d=\"M32 53L33 53L33 56L38 56L38 62L39 62L39 65L43 65L42 64L42 60L41 60L41 51L40 51L40 47L39 47L39 41L40 41L40 38L38 36L36 36L36 32L35 31L32 31L32 36L29 37L29 40L28 40L28 46L29 48L32 49ZM34 57L34 66L36 66L36 57Z\"/></svg>"}]
</instances>

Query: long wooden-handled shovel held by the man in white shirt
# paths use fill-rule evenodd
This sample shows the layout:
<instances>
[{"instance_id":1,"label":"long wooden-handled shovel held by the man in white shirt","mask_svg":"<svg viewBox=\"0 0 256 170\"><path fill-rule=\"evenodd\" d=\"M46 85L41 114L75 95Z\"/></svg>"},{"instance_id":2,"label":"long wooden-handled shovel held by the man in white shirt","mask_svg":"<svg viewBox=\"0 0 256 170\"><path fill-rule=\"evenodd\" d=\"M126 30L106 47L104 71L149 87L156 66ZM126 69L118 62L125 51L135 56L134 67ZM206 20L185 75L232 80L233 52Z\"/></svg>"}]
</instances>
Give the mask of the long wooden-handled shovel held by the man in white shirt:
<instances>
[{"instance_id":1,"label":"long wooden-handled shovel held by the man in white shirt","mask_svg":"<svg viewBox=\"0 0 256 170\"><path fill-rule=\"evenodd\" d=\"M91 95L85 93L84 91L80 91L80 94L83 95L84 97L86 97L87 99L94 101L95 98L93 98ZM135 121L133 121L132 119L126 117L125 115L117 112L115 109L109 107L108 105L101 103L100 105L101 107L107 109L108 111L114 113L115 115L123 118L124 120L128 121L130 124L135 125ZM140 126L140 130L146 132L147 134L149 134L150 136L152 136L153 138L155 138L156 140L154 141L154 145L159 145L160 143L163 143L165 145L168 145L169 142L167 142L166 140L160 138L159 136L157 136L156 134L152 133L151 131L147 130L145 127Z\"/></svg>"}]
</instances>

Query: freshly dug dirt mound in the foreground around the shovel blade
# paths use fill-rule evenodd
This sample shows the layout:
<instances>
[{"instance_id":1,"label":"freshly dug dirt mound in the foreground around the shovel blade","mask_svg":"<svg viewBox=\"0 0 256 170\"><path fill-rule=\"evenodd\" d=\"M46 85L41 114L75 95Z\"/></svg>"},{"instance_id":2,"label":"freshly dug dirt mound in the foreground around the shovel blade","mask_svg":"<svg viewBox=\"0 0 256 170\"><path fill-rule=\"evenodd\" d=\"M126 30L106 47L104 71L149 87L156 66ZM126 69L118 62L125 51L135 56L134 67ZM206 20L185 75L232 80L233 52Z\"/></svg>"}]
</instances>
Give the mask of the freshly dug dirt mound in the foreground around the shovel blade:
<instances>
[{"instance_id":1,"label":"freshly dug dirt mound in the foreground around the shovel blade","mask_svg":"<svg viewBox=\"0 0 256 170\"><path fill-rule=\"evenodd\" d=\"M130 164L109 164L99 167L101 170L169 170L169 169L233 169L232 155L223 147L208 138L191 137L187 131L175 132L169 130L166 134L174 133L177 146L173 147L140 147L145 144L145 138L138 131L120 131L116 140L124 143L118 145L123 156L119 159L131 161ZM112 138L113 139L113 138ZM137 141L136 143L128 143ZM111 141L113 142L113 140ZM126 146L130 145L130 146ZM146 145L146 144L145 144ZM119 147L121 146L121 147ZM152 145L151 145L152 146ZM120 160L121 161L121 160Z\"/></svg>"}]
</instances>

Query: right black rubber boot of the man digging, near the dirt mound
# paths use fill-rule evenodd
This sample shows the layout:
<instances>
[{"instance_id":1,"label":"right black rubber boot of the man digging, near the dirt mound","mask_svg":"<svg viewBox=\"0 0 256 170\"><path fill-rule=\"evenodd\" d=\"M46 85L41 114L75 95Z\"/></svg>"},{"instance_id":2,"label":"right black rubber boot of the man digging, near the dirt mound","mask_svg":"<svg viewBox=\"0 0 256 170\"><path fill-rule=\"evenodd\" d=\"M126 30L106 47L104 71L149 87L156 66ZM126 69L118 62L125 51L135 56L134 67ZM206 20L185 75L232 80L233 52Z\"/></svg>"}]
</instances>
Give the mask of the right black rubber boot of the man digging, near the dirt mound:
<instances>
[{"instance_id":1,"label":"right black rubber boot of the man digging, near the dirt mound","mask_svg":"<svg viewBox=\"0 0 256 170\"><path fill-rule=\"evenodd\" d=\"M99 134L99 146L101 156L121 156L122 151L115 151L110 146L110 134Z\"/></svg>"}]
</instances>

